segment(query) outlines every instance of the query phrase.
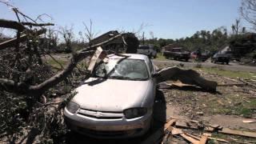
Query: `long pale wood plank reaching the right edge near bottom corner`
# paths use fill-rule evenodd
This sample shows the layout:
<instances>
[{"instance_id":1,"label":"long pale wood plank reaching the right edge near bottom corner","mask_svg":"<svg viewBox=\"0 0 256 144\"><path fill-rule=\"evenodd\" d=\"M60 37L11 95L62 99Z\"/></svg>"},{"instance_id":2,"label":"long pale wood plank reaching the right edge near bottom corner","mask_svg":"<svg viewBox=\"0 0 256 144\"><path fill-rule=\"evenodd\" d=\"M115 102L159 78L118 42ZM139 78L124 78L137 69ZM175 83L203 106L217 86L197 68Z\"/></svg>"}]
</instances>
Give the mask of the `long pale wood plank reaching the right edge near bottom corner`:
<instances>
[{"instance_id":1,"label":"long pale wood plank reaching the right edge near bottom corner","mask_svg":"<svg viewBox=\"0 0 256 144\"><path fill-rule=\"evenodd\" d=\"M218 130L218 132L222 134L234 134L250 138L256 138L256 133L243 130L232 130L229 128L223 128L222 130Z\"/></svg>"}]
</instances>

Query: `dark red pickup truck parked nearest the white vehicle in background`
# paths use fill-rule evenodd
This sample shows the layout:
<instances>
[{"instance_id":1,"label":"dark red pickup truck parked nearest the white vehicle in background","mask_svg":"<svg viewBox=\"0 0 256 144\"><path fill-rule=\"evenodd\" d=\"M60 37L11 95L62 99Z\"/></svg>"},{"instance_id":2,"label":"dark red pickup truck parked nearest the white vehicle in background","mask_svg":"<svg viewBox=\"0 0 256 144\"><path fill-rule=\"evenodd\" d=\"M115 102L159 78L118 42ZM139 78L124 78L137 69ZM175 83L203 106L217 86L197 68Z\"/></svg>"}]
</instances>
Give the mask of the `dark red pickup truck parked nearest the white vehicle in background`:
<instances>
[{"instance_id":1,"label":"dark red pickup truck parked nearest the white vehicle in background","mask_svg":"<svg viewBox=\"0 0 256 144\"><path fill-rule=\"evenodd\" d=\"M181 47L172 48L163 52L163 56L166 58L174 58L174 60L185 60L186 62L190 59L190 53L183 50Z\"/></svg>"}]
</instances>

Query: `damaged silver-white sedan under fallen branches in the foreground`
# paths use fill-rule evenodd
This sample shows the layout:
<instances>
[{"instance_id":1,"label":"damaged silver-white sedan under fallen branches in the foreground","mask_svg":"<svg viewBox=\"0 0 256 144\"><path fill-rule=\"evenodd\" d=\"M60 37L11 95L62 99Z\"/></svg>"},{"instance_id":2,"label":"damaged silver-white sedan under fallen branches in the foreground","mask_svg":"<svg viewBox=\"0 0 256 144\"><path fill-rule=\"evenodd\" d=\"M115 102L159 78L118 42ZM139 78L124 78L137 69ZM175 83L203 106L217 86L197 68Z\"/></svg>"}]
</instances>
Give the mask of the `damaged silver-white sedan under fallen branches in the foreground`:
<instances>
[{"instance_id":1,"label":"damaged silver-white sedan under fallen branches in the foreground","mask_svg":"<svg viewBox=\"0 0 256 144\"><path fill-rule=\"evenodd\" d=\"M108 55L76 89L64 114L71 130L92 137L145 134L153 120L156 73L142 54Z\"/></svg>"}]
</instances>

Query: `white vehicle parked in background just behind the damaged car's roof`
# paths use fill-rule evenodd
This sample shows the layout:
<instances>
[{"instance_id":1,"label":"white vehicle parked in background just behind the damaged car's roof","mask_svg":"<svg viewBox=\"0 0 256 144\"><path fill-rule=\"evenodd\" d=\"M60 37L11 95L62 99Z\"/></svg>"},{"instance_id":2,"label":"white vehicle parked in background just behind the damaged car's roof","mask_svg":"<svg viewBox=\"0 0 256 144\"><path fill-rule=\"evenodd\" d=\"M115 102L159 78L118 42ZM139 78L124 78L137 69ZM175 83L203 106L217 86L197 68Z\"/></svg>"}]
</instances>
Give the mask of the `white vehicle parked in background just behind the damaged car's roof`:
<instances>
[{"instance_id":1,"label":"white vehicle parked in background just behind the damaged car's roof","mask_svg":"<svg viewBox=\"0 0 256 144\"><path fill-rule=\"evenodd\" d=\"M152 45L140 45L137 49L137 54L147 55L149 58L157 57L157 50Z\"/></svg>"}]
</instances>

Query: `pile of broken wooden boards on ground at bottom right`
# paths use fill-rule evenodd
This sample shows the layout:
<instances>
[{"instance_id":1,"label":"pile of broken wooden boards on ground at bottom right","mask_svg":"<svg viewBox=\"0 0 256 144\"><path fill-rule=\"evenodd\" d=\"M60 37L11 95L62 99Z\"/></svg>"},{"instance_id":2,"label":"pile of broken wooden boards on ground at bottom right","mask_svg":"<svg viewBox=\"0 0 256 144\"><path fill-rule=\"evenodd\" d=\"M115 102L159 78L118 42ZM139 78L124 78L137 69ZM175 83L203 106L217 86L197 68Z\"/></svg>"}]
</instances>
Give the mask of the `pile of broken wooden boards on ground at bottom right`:
<instances>
[{"instance_id":1,"label":"pile of broken wooden boards on ground at bottom right","mask_svg":"<svg viewBox=\"0 0 256 144\"><path fill-rule=\"evenodd\" d=\"M250 137L250 138L256 138L256 133L255 132L249 132L249 131L244 131L244 130L232 130L230 128L223 128L222 126L219 126L217 124L205 124L203 129L200 129L200 126L191 126L190 123L194 124L199 124L200 122L190 120L189 122L180 122L178 119L172 119L170 118L169 121L166 122L164 125L164 134L158 134L156 133L150 135L149 138L146 139L145 142L157 142L154 140L159 140L162 139L162 143L166 142L166 139L171 135L179 135L182 138L186 139L186 141L189 141L193 144L205 144L207 142L207 139L212 139L215 141L219 142L226 142L229 143L228 140L222 139L222 138L213 138L212 134L210 133L202 133L202 134L189 134L188 132L185 132L182 129L193 129L193 130L200 130L200 131L209 131L209 132L218 132L221 134L234 134L234 135L239 135L239 136L244 136L244 137ZM245 122L249 122L245 121ZM190 125L190 126L189 126ZM160 130L160 129L159 129ZM156 138L158 136L158 138ZM159 138L160 137L160 138Z\"/></svg>"}]
</instances>

